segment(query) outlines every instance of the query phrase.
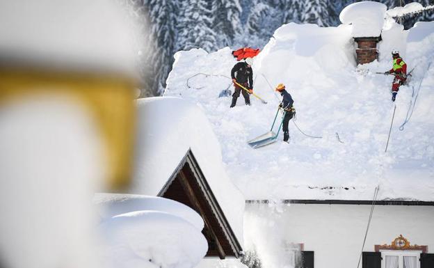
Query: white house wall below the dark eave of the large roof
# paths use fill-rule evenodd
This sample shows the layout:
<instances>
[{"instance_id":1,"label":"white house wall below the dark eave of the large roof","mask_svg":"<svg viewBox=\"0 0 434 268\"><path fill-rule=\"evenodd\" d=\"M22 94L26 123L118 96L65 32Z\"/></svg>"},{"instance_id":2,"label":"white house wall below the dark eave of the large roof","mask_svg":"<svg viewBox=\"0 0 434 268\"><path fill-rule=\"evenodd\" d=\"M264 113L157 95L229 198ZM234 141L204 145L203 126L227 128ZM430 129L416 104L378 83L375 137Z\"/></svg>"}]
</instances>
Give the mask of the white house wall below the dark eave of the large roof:
<instances>
[{"instance_id":1,"label":"white house wall below the dark eave of the large roof","mask_svg":"<svg viewBox=\"0 0 434 268\"><path fill-rule=\"evenodd\" d=\"M291 267L285 247L303 243L305 251L314 251L315 268L357 267L370 210L371 205L247 204L245 250L255 250L263 268ZM376 205L363 251L401 234L434 253L434 207Z\"/></svg>"}]
</instances>

